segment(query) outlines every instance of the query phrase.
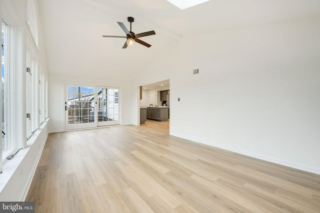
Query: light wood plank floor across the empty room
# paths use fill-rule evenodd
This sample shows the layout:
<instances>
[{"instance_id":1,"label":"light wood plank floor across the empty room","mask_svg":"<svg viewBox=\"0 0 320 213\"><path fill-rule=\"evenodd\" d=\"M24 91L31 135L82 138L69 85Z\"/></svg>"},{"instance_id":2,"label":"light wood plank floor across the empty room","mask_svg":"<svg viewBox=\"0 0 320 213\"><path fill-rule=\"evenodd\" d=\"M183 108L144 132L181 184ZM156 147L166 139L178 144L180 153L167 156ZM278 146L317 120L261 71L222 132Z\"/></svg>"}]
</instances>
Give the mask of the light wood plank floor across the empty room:
<instances>
[{"instance_id":1,"label":"light wood plank floor across the empty room","mask_svg":"<svg viewBox=\"0 0 320 213\"><path fill-rule=\"evenodd\" d=\"M168 135L168 122L48 135L36 213L319 213L320 176Z\"/></svg>"}]
</instances>

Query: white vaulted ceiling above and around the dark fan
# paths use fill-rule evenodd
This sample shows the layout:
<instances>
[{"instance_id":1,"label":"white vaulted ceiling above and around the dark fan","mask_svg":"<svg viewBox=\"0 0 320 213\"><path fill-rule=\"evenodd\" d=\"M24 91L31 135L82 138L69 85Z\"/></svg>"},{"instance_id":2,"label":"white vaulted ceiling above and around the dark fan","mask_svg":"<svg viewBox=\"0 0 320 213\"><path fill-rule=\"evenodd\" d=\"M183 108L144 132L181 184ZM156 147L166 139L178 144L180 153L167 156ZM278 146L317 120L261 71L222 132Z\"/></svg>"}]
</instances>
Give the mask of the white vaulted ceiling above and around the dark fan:
<instances>
[{"instance_id":1,"label":"white vaulted ceiling above and around the dark fan","mask_svg":"<svg viewBox=\"0 0 320 213\"><path fill-rule=\"evenodd\" d=\"M122 80L136 77L184 35L320 15L320 0L209 0L184 10L166 0L38 3L49 73ZM128 16L135 19L133 32L155 31L141 38L150 48L122 49L125 38L101 36L124 36L116 22L129 29Z\"/></svg>"}]
</instances>

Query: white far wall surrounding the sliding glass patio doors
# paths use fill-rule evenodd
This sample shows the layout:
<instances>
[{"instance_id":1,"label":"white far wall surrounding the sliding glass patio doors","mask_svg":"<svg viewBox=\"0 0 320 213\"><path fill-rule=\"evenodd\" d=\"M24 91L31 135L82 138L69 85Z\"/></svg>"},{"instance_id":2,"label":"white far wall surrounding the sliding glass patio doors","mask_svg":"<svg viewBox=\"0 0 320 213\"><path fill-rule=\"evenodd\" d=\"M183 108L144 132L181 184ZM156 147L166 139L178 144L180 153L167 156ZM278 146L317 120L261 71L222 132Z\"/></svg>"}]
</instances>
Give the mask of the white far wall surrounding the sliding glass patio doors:
<instances>
[{"instance_id":1,"label":"white far wall surrounding the sliding glass patio doors","mask_svg":"<svg viewBox=\"0 0 320 213\"><path fill-rule=\"evenodd\" d=\"M129 82L115 81L107 78L86 78L81 76L67 76L49 74L48 83L48 116L50 117L49 132L65 130L64 122L64 93L65 83L74 83L89 86L109 86L120 88L121 124L132 124L132 111L137 110L135 103L136 93Z\"/></svg>"}]
</instances>

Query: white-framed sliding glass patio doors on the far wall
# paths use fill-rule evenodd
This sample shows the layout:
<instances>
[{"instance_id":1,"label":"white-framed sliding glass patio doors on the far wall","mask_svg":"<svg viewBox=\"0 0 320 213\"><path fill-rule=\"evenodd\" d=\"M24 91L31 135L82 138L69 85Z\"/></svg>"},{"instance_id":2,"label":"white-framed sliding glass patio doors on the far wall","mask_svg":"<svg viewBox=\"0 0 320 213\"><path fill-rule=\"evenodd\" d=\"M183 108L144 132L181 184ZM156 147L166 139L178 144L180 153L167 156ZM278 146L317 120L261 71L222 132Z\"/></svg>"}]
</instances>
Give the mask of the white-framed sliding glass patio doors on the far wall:
<instances>
[{"instance_id":1,"label":"white-framed sliding glass patio doors on the far wall","mask_svg":"<svg viewBox=\"0 0 320 213\"><path fill-rule=\"evenodd\" d=\"M116 125L119 121L119 89L66 85L65 129Z\"/></svg>"}]
</instances>

